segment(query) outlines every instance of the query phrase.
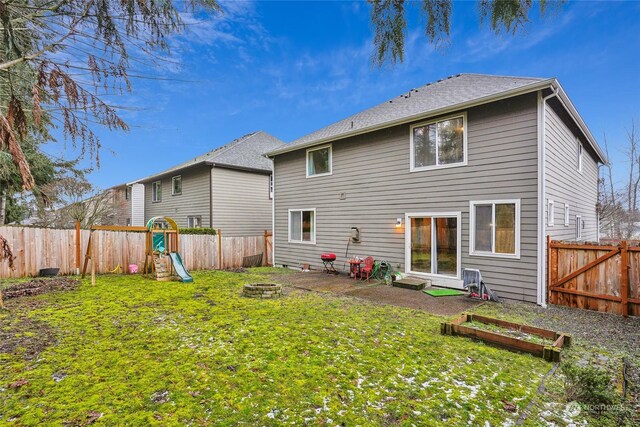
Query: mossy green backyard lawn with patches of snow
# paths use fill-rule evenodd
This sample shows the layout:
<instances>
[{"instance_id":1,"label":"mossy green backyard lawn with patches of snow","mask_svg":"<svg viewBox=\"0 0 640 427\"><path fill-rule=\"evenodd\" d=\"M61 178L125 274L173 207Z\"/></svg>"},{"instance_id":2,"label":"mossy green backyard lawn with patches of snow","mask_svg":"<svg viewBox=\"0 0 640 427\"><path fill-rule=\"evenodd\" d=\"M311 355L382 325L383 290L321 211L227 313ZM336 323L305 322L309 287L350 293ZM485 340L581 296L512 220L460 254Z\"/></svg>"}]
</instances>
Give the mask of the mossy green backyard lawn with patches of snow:
<instances>
[{"instance_id":1,"label":"mossy green backyard lawn with patches of snow","mask_svg":"<svg viewBox=\"0 0 640 427\"><path fill-rule=\"evenodd\" d=\"M551 368L420 311L240 295L268 271L6 301L0 425L513 425Z\"/></svg>"}]
</instances>

